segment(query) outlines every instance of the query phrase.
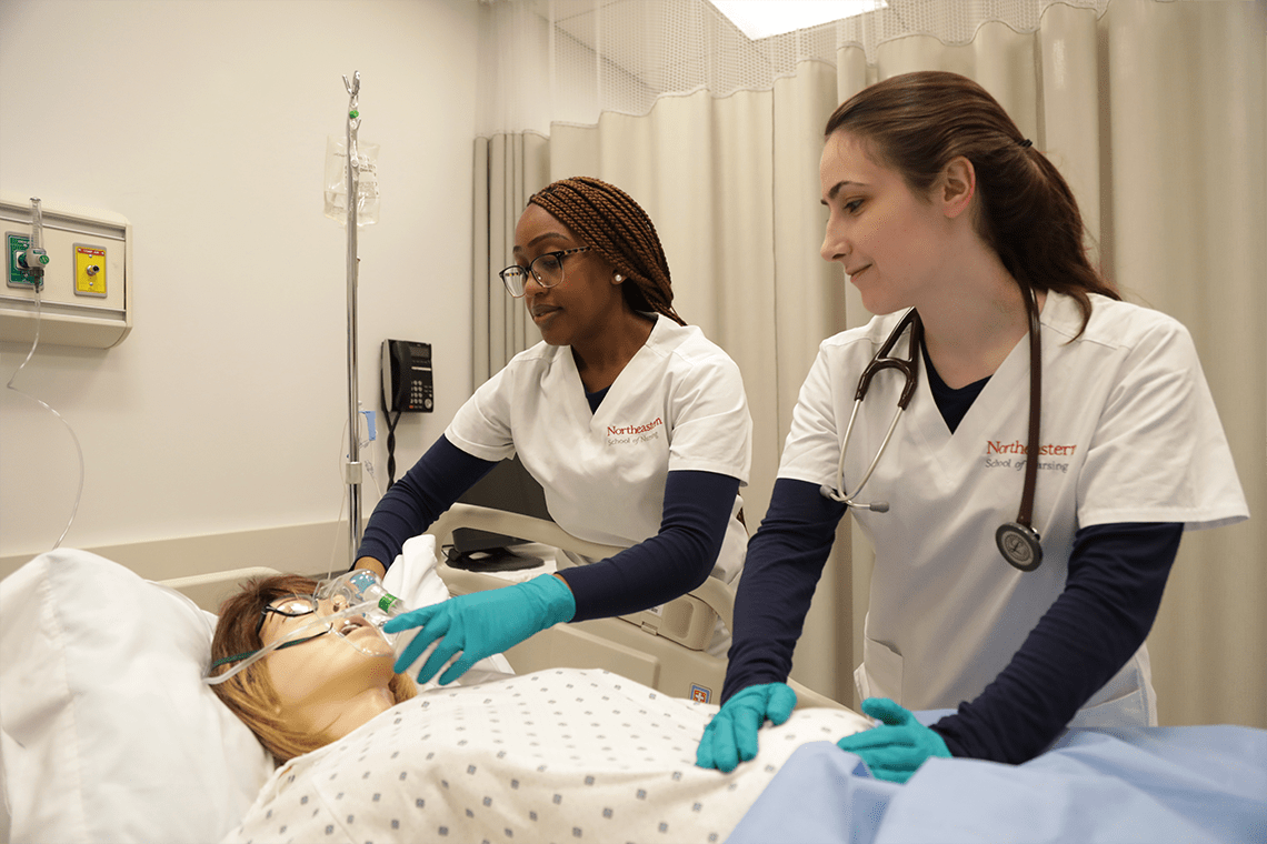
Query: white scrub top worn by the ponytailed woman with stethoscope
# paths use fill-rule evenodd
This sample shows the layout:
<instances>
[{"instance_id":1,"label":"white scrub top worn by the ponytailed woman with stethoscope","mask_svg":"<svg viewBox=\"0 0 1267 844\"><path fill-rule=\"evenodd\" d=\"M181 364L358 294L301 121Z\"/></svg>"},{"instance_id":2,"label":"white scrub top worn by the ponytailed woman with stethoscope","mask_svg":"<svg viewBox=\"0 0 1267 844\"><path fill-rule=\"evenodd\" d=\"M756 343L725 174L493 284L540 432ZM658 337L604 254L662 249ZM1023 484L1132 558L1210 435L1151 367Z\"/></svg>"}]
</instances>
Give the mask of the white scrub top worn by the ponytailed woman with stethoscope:
<instances>
[{"instance_id":1,"label":"white scrub top worn by the ponytailed woman with stethoscope","mask_svg":"<svg viewBox=\"0 0 1267 844\"><path fill-rule=\"evenodd\" d=\"M1034 529L1043 564L1011 567L995 531L1016 519L1028 459L1029 338L990 378L954 434L920 366L919 387L854 510L875 549L864 697L912 710L971 701L1007 666L1060 595L1078 528L1124 521L1213 528L1248 518L1223 426L1187 330L1164 314L1092 296L1082 311L1048 294L1041 314L1043 410ZM901 314L825 340L793 414L779 477L836 486L863 368ZM907 340L897 345L905 356ZM902 377L873 378L845 463L853 490L897 407ZM1156 724L1142 647L1072 721Z\"/></svg>"}]
</instances>

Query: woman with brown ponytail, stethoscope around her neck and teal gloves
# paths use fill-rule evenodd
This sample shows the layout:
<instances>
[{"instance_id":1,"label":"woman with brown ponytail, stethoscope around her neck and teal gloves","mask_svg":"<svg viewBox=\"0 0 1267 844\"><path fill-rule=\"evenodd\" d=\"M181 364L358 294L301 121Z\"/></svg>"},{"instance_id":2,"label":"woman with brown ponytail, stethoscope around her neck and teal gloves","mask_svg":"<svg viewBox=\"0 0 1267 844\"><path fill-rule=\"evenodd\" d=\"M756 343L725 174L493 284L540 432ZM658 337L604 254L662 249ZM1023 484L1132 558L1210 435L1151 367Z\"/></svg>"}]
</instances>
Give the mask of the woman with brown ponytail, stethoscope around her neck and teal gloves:
<instances>
[{"instance_id":1,"label":"woman with brown ponytail, stethoscope around her neck and teal gloves","mask_svg":"<svg viewBox=\"0 0 1267 844\"><path fill-rule=\"evenodd\" d=\"M1187 330L1121 301L1064 178L963 76L850 97L820 175L822 257L875 316L801 388L698 764L731 771L788 717L846 509L875 550L854 678L879 723L837 744L877 777L1156 725L1144 639L1180 539L1248 515Z\"/></svg>"}]
</instances>

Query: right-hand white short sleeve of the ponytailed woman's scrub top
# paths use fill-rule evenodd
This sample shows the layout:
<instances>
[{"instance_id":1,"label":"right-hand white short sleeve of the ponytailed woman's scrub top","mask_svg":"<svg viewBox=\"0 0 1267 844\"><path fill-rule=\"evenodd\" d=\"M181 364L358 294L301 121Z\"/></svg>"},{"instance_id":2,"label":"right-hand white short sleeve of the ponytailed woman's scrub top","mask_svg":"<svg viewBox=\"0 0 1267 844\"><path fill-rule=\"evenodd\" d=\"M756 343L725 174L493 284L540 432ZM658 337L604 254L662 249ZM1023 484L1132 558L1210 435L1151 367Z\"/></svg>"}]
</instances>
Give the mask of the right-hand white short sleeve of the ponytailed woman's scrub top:
<instances>
[{"instance_id":1,"label":"right-hand white short sleeve of the ponytailed woman's scrub top","mask_svg":"<svg viewBox=\"0 0 1267 844\"><path fill-rule=\"evenodd\" d=\"M1180 521L1194 530L1247 516L1192 338L1159 320L1129 349L1101 411L1079 477L1078 524Z\"/></svg>"}]
</instances>

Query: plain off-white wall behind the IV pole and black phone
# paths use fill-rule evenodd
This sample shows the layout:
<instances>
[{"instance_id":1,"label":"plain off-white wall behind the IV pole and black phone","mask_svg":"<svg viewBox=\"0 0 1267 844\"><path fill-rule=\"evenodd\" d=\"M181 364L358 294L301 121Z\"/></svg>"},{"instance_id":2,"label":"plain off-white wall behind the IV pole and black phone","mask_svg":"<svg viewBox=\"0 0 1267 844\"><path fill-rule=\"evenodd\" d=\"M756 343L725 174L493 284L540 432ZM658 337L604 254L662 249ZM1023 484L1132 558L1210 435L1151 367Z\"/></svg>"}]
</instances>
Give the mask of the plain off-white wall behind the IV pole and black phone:
<instances>
[{"instance_id":1,"label":"plain off-white wall behind the IV pole and black phone","mask_svg":"<svg viewBox=\"0 0 1267 844\"><path fill-rule=\"evenodd\" d=\"M41 345L14 382L82 443L63 545L338 518L346 234L322 183L353 71L383 192L360 237L361 401L378 409L384 338L430 342L437 413L402 420L397 477L442 433L471 381L476 14L475 0L0 0L0 189L114 211L134 233L132 333L108 351ZM0 342L0 385L28 349ZM365 457L385 483L379 428ZM65 428L0 387L0 555L51 548L77 483ZM366 478L364 512L376 500Z\"/></svg>"}]
</instances>

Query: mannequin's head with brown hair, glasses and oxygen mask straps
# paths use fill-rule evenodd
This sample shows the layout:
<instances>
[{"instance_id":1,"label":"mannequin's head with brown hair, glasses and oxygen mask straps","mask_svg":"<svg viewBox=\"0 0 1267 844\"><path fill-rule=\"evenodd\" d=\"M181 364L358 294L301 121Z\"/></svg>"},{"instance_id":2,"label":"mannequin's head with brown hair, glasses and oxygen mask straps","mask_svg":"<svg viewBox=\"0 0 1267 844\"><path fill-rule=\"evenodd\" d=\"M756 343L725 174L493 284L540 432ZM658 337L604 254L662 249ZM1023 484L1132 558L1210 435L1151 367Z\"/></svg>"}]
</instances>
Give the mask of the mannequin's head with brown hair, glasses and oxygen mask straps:
<instances>
[{"instance_id":1,"label":"mannequin's head with brown hair, glasses and oxygen mask straps","mask_svg":"<svg viewBox=\"0 0 1267 844\"><path fill-rule=\"evenodd\" d=\"M315 590L317 581L298 574L248 581L220 607L212 662L257 650L310 624L315 617L312 614L289 617L265 607L291 595L313 595ZM322 602L317 614L332 609ZM341 739L416 693L412 680L393 673L395 654L376 631L369 626L352 628L348 621L345 636L324 633L274 650L212 688L279 763L286 762ZM219 666L212 673L231 668L232 663Z\"/></svg>"}]
</instances>

